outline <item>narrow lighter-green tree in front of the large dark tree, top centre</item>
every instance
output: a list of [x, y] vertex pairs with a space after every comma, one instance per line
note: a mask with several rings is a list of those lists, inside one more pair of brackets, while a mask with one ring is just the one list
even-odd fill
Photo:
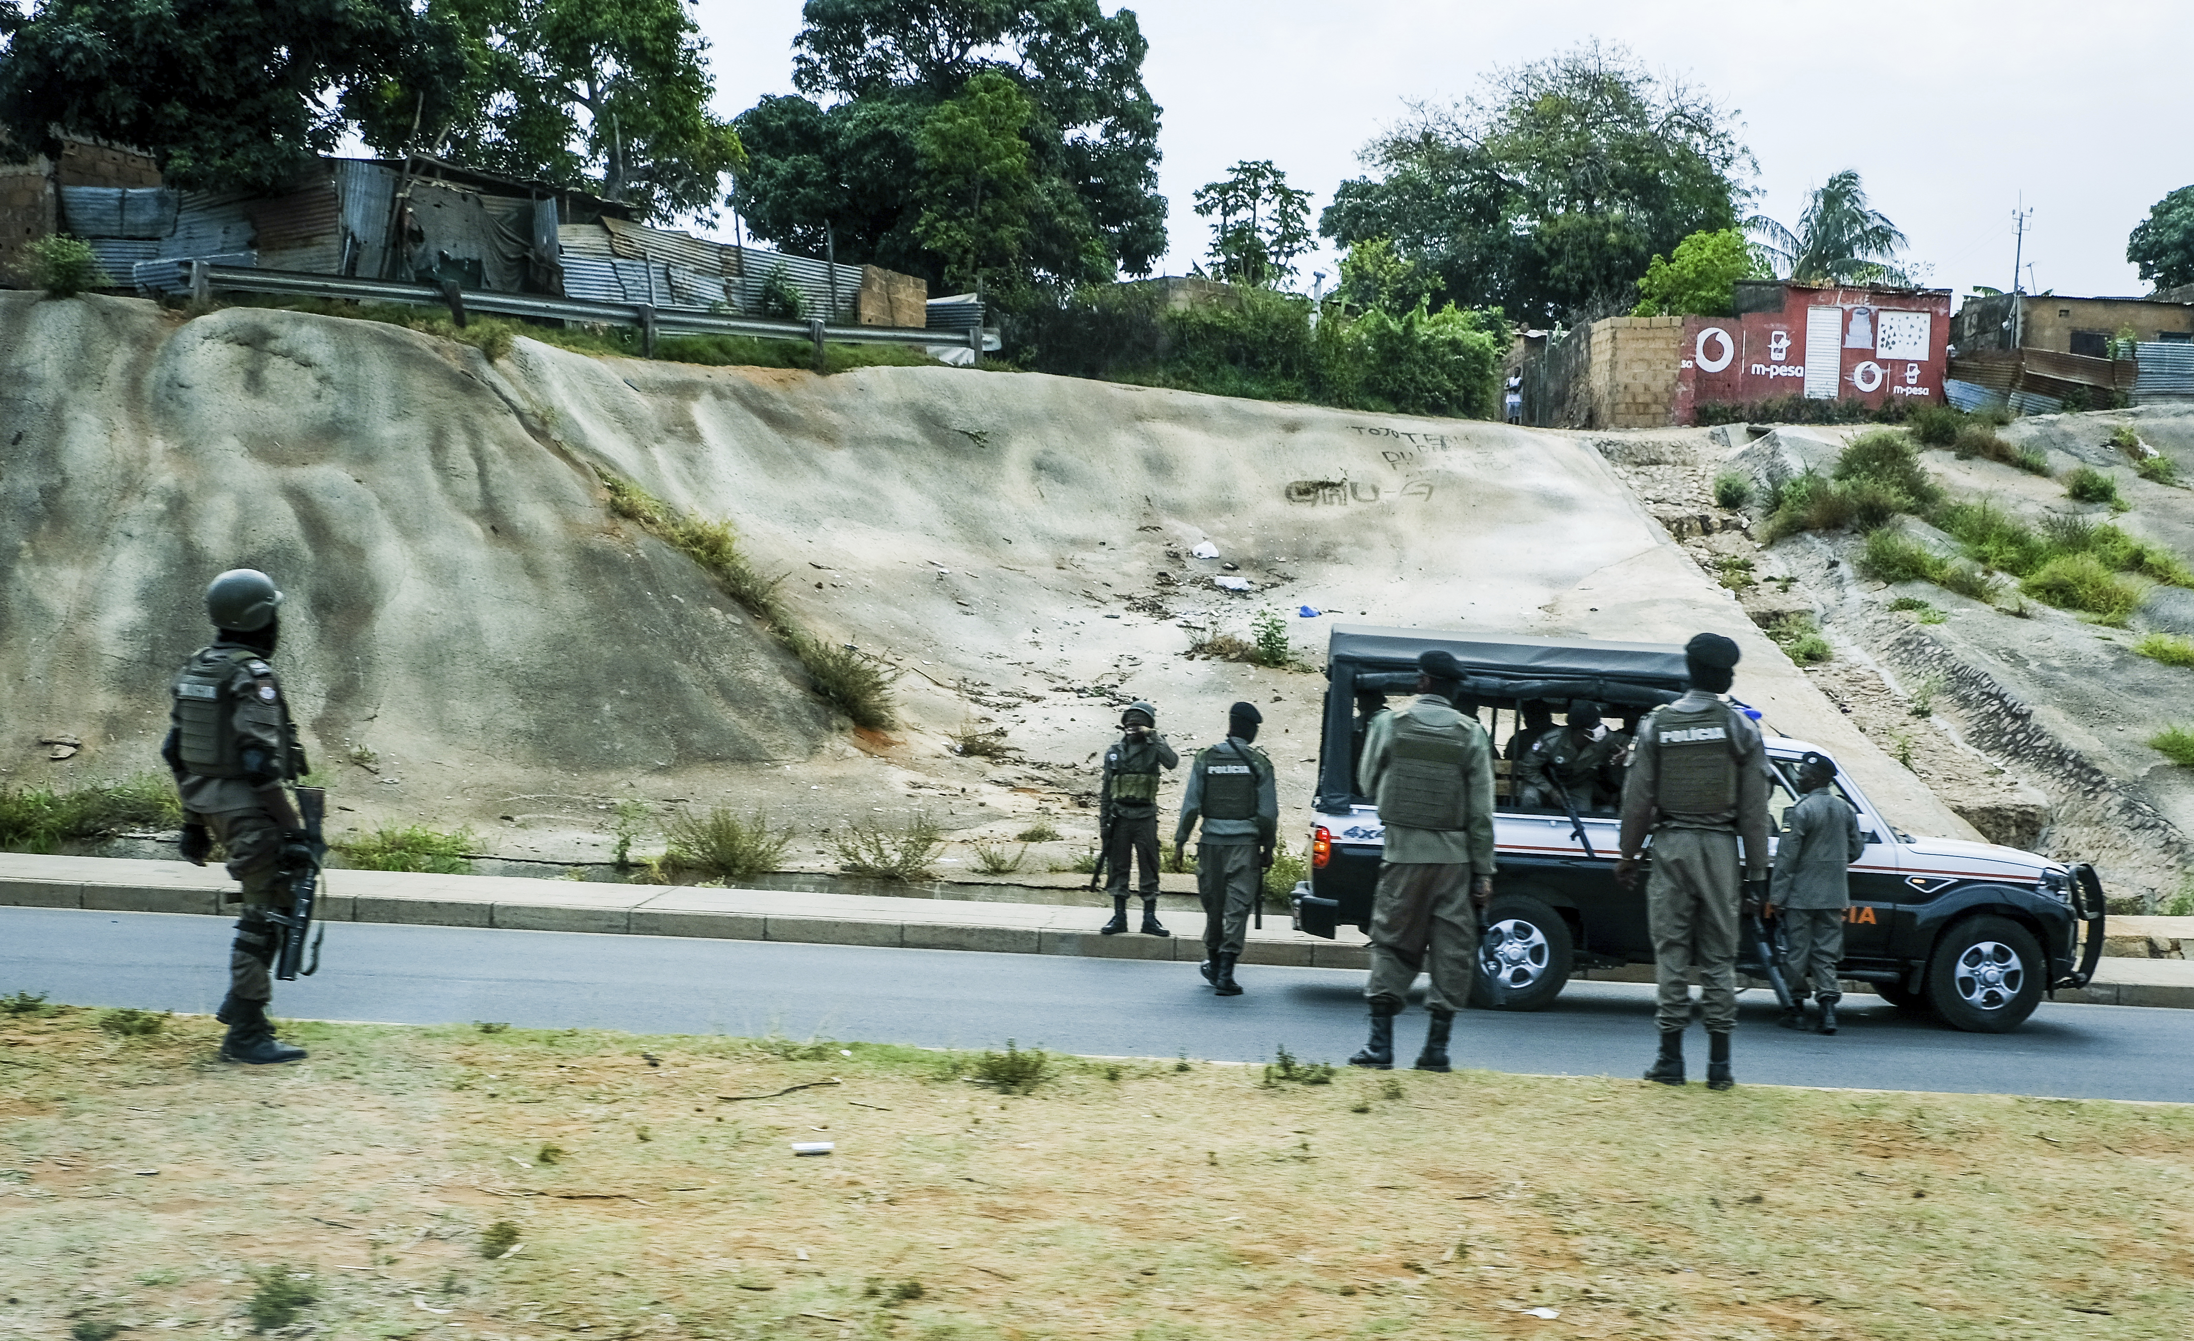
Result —
[[1036, 103], [983, 70], [939, 103], [915, 134], [921, 219], [915, 235], [943, 263], [946, 283], [976, 288], [985, 270], [1011, 272], [1029, 241], [1029, 143]]

